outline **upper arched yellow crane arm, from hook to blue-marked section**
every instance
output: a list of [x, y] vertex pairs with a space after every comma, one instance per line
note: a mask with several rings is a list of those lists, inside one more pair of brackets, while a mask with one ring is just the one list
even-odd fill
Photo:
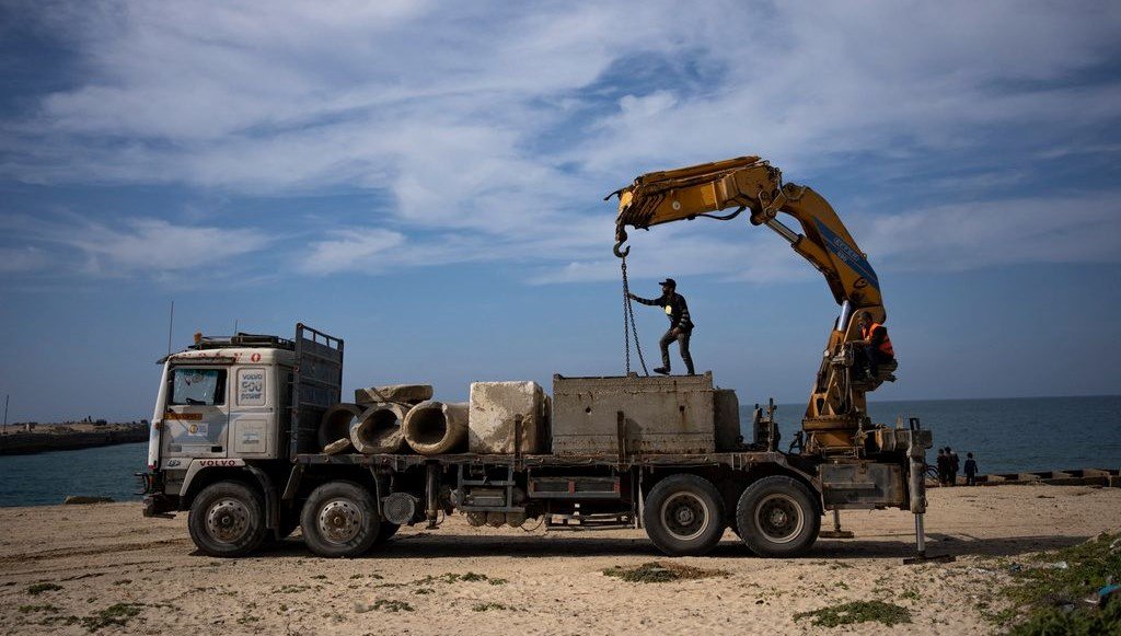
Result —
[[[627, 225], [647, 229], [740, 208], [729, 216], [715, 216], [726, 220], [748, 209], [753, 225], [767, 225], [778, 232], [794, 251], [825, 276], [837, 304], [849, 301], [853, 308], [882, 305], [876, 270], [828, 202], [809, 187], [784, 184], [782, 173], [759, 157], [645, 174], [618, 194], [615, 252], [619, 256], [627, 241]], [[776, 218], [779, 212], [794, 216], [802, 232], [779, 221]]]

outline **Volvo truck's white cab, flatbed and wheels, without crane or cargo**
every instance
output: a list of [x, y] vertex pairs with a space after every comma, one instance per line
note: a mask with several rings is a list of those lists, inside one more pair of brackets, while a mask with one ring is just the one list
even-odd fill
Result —
[[731, 528], [756, 554], [793, 556], [827, 510], [895, 507], [916, 514], [921, 540], [932, 436], [917, 420], [870, 426], [865, 452], [834, 457], [779, 451], [758, 415], [758, 439], [735, 450], [639, 452], [622, 412], [612, 453], [328, 454], [316, 433], [340, 402], [342, 360], [341, 339], [303, 324], [291, 341], [200, 339], [163, 360], [145, 514], [189, 511], [195, 544], [217, 556], [297, 526], [316, 554], [356, 556], [454, 511], [476, 526], [631, 525], [670, 555], [705, 554]]

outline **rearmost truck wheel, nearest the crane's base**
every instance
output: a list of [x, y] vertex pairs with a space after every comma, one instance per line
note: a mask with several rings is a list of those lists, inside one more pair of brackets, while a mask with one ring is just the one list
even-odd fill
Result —
[[740, 495], [735, 526], [743, 543], [760, 556], [797, 556], [817, 540], [822, 518], [805, 483], [771, 476]]

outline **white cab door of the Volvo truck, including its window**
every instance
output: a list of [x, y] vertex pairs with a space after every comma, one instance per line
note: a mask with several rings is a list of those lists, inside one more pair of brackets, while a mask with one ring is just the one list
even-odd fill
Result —
[[164, 415], [165, 458], [224, 458], [230, 425], [229, 369], [174, 367]]

